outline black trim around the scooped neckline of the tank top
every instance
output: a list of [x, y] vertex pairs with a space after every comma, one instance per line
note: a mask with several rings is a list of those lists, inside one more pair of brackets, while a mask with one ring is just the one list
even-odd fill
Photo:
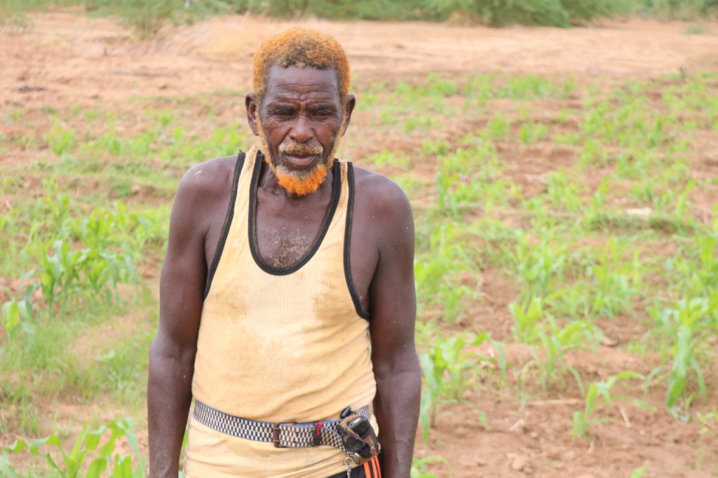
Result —
[[259, 254], [259, 247], [257, 244], [257, 228], [255, 222], [257, 217], [257, 186], [259, 184], [259, 177], [261, 176], [261, 164], [262, 162], [264, 162], [264, 157], [261, 156], [261, 154], [257, 153], [257, 159], [255, 161], [256, 162], [254, 166], [254, 171], [252, 173], [252, 182], [251, 186], [249, 187], [249, 220], [247, 221], [249, 250], [251, 250], [252, 252], [252, 258], [254, 258], [254, 262], [257, 266], [259, 266], [259, 268], [261, 268], [262, 271], [273, 274], [274, 276], [286, 276], [293, 272], [299, 271], [299, 269], [302, 268], [304, 264], [309, 262], [309, 260], [314, 257], [314, 254], [317, 253], [317, 250], [319, 250], [319, 246], [322, 244], [324, 236], [327, 235], [327, 230], [329, 229], [329, 225], [332, 223], [332, 218], [334, 217], [334, 213], [337, 210], [337, 205], [339, 205], [340, 193], [342, 192], [341, 167], [339, 161], [335, 159], [334, 166], [332, 167], [332, 198], [330, 200], [330, 206], [324, 216], [324, 219], [322, 220], [319, 233], [317, 233], [317, 237], [314, 238], [312, 246], [309, 247], [309, 250], [304, 253], [304, 256], [299, 259], [299, 261], [292, 267], [280, 268], [273, 267], [270, 266], [268, 263], [265, 263], [264, 259], [262, 259], [261, 255]]

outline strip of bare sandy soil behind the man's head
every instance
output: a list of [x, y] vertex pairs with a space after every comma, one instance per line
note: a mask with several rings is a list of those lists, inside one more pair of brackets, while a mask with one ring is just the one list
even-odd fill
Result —
[[615, 77], [718, 68], [718, 35], [689, 35], [680, 23], [631, 20], [579, 29], [489, 29], [223, 17], [137, 44], [111, 19], [55, 13], [33, 17], [24, 32], [2, 35], [0, 101], [87, 103], [246, 88], [258, 44], [295, 24], [335, 35], [359, 79], [426, 71]]

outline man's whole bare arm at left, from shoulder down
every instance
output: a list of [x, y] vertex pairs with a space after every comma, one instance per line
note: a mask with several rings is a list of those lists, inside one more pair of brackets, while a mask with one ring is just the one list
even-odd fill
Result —
[[[206, 179], [190, 169], [172, 207], [159, 286], [159, 330], [149, 352], [147, 416], [150, 477], [177, 478], [192, 401], [192, 374], [207, 276]], [[206, 217], [206, 215], [205, 215]]]

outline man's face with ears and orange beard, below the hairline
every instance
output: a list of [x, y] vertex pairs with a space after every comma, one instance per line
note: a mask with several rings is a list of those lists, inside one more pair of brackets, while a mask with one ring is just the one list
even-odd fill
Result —
[[315, 192], [345, 129], [337, 72], [273, 65], [262, 103], [248, 95], [247, 108], [279, 184], [294, 195]]

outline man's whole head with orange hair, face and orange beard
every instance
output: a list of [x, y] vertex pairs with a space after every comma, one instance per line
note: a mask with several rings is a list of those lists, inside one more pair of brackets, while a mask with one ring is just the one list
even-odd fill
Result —
[[329, 35], [291, 29], [255, 53], [247, 118], [290, 194], [311, 194], [324, 181], [354, 108], [348, 91], [347, 56]]

